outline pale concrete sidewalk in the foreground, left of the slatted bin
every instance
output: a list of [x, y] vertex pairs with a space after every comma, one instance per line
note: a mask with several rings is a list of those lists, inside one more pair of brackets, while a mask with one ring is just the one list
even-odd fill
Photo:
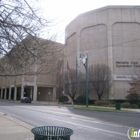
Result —
[[33, 126], [0, 113], [0, 140], [34, 140]]

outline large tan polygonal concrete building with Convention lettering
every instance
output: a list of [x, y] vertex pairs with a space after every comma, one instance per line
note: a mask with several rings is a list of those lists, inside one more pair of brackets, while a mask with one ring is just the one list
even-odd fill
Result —
[[89, 65], [106, 64], [112, 71], [108, 98], [124, 99], [134, 69], [140, 69], [140, 6], [106, 6], [80, 14], [65, 34], [65, 68], [68, 61], [75, 69], [76, 57], [88, 53]]

